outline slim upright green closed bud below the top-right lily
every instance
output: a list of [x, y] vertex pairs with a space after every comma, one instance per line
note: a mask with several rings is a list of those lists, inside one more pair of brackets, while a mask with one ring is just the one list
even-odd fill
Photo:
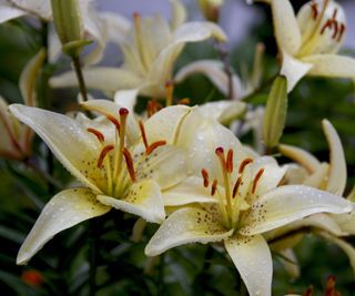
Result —
[[267, 149], [275, 147], [282, 136], [287, 114], [287, 80], [275, 79], [267, 98], [263, 124], [263, 140]]

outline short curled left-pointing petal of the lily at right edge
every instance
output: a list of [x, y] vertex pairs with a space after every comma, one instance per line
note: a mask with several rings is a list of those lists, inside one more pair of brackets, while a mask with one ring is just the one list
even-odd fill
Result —
[[301, 164], [310, 174], [314, 173], [321, 164], [310, 152], [296, 146], [281, 144], [278, 151], [282, 155]]

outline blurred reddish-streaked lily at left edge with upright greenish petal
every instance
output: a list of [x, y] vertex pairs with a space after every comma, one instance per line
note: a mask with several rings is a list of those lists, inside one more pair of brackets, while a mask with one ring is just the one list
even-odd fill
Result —
[[[20, 91], [24, 104], [36, 106], [37, 76], [44, 61], [44, 50], [40, 50], [24, 67], [20, 76]], [[0, 156], [24, 160], [31, 154], [33, 132], [21, 124], [8, 110], [7, 101], [0, 96]]]

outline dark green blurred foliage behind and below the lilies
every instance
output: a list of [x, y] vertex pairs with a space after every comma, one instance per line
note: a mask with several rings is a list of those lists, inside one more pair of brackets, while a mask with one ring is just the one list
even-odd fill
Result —
[[[240, 1], [240, 0], [235, 0]], [[353, 0], [348, 0], [353, 3]], [[305, 1], [294, 1], [296, 7]], [[345, 1], [338, 1], [345, 2]], [[355, 3], [353, 3], [355, 4]], [[257, 4], [262, 21], [250, 28], [247, 39], [230, 50], [232, 67], [237, 74], [251, 69], [257, 42], [266, 48], [264, 81], [277, 73], [276, 45], [273, 38], [270, 10]], [[9, 102], [21, 102], [18, 79], [24, 64], [38, 51], [41, 33], [36, 23], [16, 20], [0, 25], [0, 94]], [[353, 30], [354, 28], [348, 28]], [[344, 49], [355, 57], [355, 45]], [[219, 59], [212, 42], [187, 45], [176, 63], [176, 70], [197, 59]], [[114, 59], [119, 64], [120, 59]], [[69, 67], [60, 61], [55, 71]], [[267, 88], [252, 98], [254, 105], [266, 100]], [[61, 112], [71, 110], [75, 90], [51, 91], [52, 108]], [[175, 95], [191, 98], [192, 104], [224, 99], [211, 82], [194, 75], [176, 86]], [[348, 164], [348, 187], [355, 183], [355, 91], [351, 80], [303, 79], [290, 95], [288, 116], [283, 143], [298, 145], [314, 153], [320, 160], [328, 160], [328, 147], [322, 132], [322, 119], [328, 119], [338, 131]], [[242, 141], [250, 142], [245, 135]], [[112, 211], [94, 220], [94, 233], [88, 223], [57, 235], [30, 262], [16, 266], [17, 252], [32, 227], [43, 204], [58, 191], [38, 170], [51, 171], [58, 186], [71, 182], [69, 173], [50, 157], [37, 139], [37, 169], [0, 160], [0, 290], [1, 295], [89, 295], [89, 245], [98, 248], [98, 295], [246, 295], [237, 272], [224, 253], [205, 245], [178, 247], [164, 256], [146, 259], [145, 243], [156, 226], [150, 225], [141, 243], [130, 239], [136, 218]], [[281, 160], [283, 161], [283, 160]], [[355, 243], [354, 238], [349, 239]], [[275, 257], [273, 295], [290, 292], [302, 294], [311, 284], [315, 295], [322, 295], [326, 277], [337, 276], [337, 288], [344, 296], [355, 295], [354, 274], [347, 257], [334, 245], [307, 235], [296, 247], [301, 264], [301, 277], [292, 280]], [[36, 273], [33, 271], [38, 271]]]

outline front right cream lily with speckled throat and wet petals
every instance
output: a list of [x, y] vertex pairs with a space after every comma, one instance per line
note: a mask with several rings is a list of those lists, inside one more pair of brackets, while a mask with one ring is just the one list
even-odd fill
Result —
[[223, 241], [250, 295], [271, 295], [272, 258], [262, 234], [314, 213], [347, 213], [352, 205], [308, 186], [277, 187], [284, 169], [272, 157], [247, 156], [235, 136], [211, 119], [190, 114], [181, 129], [192, 125], [195, 130], [184, 132], [178, 141], [190, 147], [192, 176], [173, 187], [181, 188], [179, 195], [170, 195], [168, 190], [164, 198], [169, 198], [168, 205], [180, 200], [186, 204], [189, 198], [195, 203], [200, 198], [200, 203], [173, 212], [146, 245], [145, 254]]

